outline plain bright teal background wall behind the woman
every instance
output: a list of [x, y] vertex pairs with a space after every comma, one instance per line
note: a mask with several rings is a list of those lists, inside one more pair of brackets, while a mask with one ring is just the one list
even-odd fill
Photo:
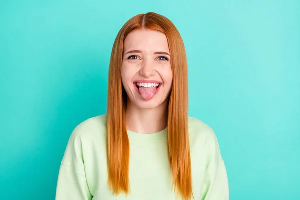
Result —
[[2, 0], [0, 199], [54, 199], [68, 138], [105, 113], [122, 25], [148, 11], [184, 40], [189, 115], [215, 131], [230, 199], [300, 199], [299, 0]]

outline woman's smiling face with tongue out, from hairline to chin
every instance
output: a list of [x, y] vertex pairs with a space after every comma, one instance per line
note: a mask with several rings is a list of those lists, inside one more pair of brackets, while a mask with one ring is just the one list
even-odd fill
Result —
[[123, 53], [121, 76], [128, 101], [139, 108], [154, 108], [165, 102], [172, 87], [166, 35], [133, 30], [124, 41]]

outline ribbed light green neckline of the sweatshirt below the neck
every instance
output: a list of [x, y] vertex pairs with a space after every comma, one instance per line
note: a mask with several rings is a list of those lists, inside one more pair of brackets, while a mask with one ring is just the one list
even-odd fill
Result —
[[167, 127], [155, 133], [141, 134], [127, 130], [129, 140], [151, 142], [167, 137]]

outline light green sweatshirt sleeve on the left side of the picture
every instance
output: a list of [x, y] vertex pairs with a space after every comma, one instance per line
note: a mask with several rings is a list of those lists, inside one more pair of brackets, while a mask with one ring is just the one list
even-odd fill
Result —
[[92, 198], [87, 184], [82, 142], [78, 126], [72, 132], [61, 161], [56, 187], [56, 200], [89, 200]]

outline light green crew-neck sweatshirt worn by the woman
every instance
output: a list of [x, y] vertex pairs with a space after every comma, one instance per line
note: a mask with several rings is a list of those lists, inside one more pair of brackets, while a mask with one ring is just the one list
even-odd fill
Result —
[[[224, 161], [214, 131], [189, 117], [193, 195], [196, 200], [229, 199]], [[107, 186], [106, 115], [89, 118], [72, 132], [59, 169], [57, 200], [173, 200], [167, 128], [152, 134], [128, 132], [131, 193], [112, 195]], [[181, 198], [177, 198], [181, 199]]]

